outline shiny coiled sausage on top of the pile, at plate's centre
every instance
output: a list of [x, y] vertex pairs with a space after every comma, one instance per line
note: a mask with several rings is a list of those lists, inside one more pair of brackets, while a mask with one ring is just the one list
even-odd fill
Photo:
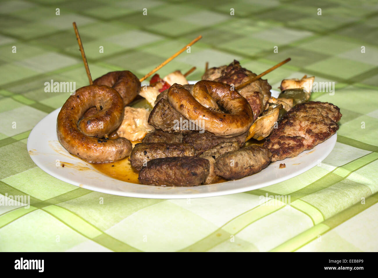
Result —
[[[248, 131], [253, 123], [253, 111], [248, 101], [232, 91], [230, 86], [215, 81], [197, 82], [194, 95], [209, 94], [212, 99], [228, 113], [214, 112], [201, 105], [191, 93], [179, 84], [168, 90], [170, 105], [191, 121], [203, 123], [204, 130], [219, 137], [235, 137]], [[205, 98], [203, 96], [202, 98]]]

